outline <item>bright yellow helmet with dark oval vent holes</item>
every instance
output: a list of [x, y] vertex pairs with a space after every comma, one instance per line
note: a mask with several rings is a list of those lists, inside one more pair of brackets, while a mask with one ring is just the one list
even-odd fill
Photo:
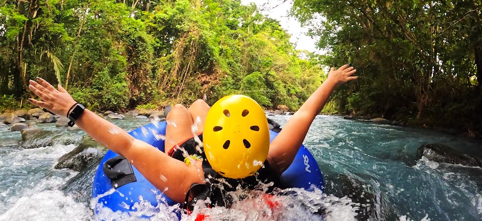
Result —
[[209, 109], [203, 144], [212, 169], [224, 177], [251, 176], [268, 156], [270, 132], [263, 108], [245, 95], [229, 95]]

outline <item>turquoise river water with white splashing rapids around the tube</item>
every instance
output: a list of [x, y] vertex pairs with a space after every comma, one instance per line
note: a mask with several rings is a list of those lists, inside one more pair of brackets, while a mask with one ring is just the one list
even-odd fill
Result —
[[[290, 117], [269, 116], [282, 126]], [[112, 122], [127, 131], [149, 123], [132, 117]], [[0, 220], [95, 219], [90, 202], [94, 170], [78, 174], [54, 169], [85, 133], [56, 128], [55, 124], [36, 127], [60, 134], [61, 140], [68, 142], [24, 149], [19, 144], [20, 132], [0, 128]], [[474, 156], [480, 156], [482, 148], [480, 140], [430, 130], [317, 116], [304, 145], [325, 176], [326, 194], [300, 190], [298, 198], [280, 197], [281, 203], [289, 206], [280, 211], [283, 214], [271, 217], [321, 219], [303, 214], [306, 208], [292, 203], [318, 200], [327, 220], [482, 220], [482, 169], [415, 159], [418, 147], [426, 143], [442, 143]], [[216, 208], [208, 214], [214, 220], [262, 220], [266, 215], [246, 207]]]

